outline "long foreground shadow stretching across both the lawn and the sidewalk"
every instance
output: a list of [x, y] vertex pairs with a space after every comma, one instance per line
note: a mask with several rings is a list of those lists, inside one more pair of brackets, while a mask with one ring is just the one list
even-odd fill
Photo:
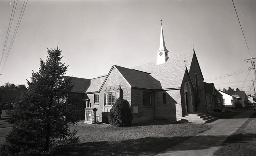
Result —
[[[209, 149], [212, 146], [220, 146], [227, 136], [218, 135], [202, 135], [190, 137], [146, 137], [140, 139], [127, 139], [121, 141], [98, 141], [90, 143], [81, 143], [73, 147], [61, 149], [56, 151], [59, 156], [105, 156], [105, 155], [127, 155], [127, 156], [139, 156], [139, 155], [155, 155], [163, 150], [166, 152], [172, 151], [186, 151], [186, 150], [200, 150]], [[234, 136], [245, 137], [248, 140], [256, 139], [255, 134], [249, 134], [246, 136]], [[189, 141], [182, 143], [182, 146], [175, 146], [175, 149], [168, 149], [176, 144], [179, 144], [188, 138]]]

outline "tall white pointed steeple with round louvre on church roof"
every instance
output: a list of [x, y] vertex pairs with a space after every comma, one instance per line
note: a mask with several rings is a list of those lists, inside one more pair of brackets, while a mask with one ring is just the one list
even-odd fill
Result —
[[157, 58], [157, 61], [156, 61], [156, 65], [165, 63], [169, 58], [168, 57], [168, 52], [169, 51], [165, 47], [164, 33], [162, 31], [162, 19], [160, 21], [161, 21], [160, 45], [159, 45], [159, 49], [157, 51], [158, 58]]

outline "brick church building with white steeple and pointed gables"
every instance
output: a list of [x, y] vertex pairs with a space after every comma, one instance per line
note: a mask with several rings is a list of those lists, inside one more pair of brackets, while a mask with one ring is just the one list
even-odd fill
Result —
[[[69, 95], [78, 99], [80, 110], [96, 108], [99, 122], [108, 121], [108, 112], [119, 97], [131, 105], [132, 123], [154, 118], [176, 121], [188, 112], [206, 112], [204, 78], [194, 50], [170, 56], [161, 25], [156, 53], [156, 62], [133, 68], [113, 65], [107, 76], [94, 79], [73, 77]], [[81, 118], [84, 115], [91, 118], [82, 113]]]

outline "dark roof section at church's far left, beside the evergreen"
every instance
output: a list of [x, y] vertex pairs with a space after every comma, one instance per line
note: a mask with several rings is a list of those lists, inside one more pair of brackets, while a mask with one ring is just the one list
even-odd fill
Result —
[[[63, 76], [64, 80], [71, 78], [70, 76]], [[71, 84], [74, 84], [72, 93], [85, 93], [85, 91], [89, 88], [90, 79], [72, 77]]]

